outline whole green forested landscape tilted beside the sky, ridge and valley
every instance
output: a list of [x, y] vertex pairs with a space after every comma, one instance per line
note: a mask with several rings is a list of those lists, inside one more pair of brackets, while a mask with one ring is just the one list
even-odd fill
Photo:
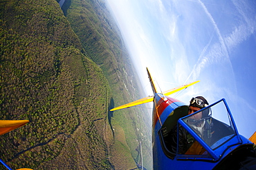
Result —
[[0, 158], [13, 169], [132, 169], [144, 140], [150, 162], [143, 110], [109, 111], [142, 90], [104, 1], [0, 2], [0, 120], [30, 120], [0, 136]]

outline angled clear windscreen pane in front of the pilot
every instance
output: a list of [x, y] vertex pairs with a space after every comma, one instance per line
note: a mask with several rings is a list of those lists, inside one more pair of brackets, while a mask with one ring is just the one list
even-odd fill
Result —
[[183, 122], [213, 150], [235, 136], [234, 125], [223, 101], [183, 118]]

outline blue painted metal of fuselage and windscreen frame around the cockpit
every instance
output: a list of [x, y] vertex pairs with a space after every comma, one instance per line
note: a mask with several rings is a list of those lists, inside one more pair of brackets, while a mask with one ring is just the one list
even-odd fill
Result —
[[[170, 101], [174, 101], [174, 102], [171, 103]], [[223, 102], [226, 105], [226, 110], [230, 118], [230, 123], [232, 124], [232, 128], [234, 129], [234, 134], [230, 136], [230, 138], [226, 137], [221, 139], [223, 140], [222, 142], [221, 140], [219, 141], [221, 142], [221, 145], [216, 147], [216, 149], [212, 149], [186, 123], [183, 122], [183, 119], [189, 116], [180, 118], [179, 124], [182, 127], [184, 127], [206, 149], [206, 151], [208, 151], [208, 154], [210, 154], [211, 158], [200, 158], [202, 156], [179, 155], [176, 153], [176, 156], [172, 160], [168, 158], [163, 151], [163, 146], [161, 146], [163, 144], [161, 144], [161, 140], [160, 140], [161, 136], [159, 136], [158, 131], [161, 129], [163, 123], [167, 119], [167, 116], [169, 116], [170, 113], [174, 111], [174, 109], [176, 109], [177, 107], [184, 105], [184, 103], [176, 101], [173, 98], [167, 98], [165, 96], [162, 96], [161, 94], [156, 94], [154, 98], [153, 114], [154, 115], [158, 114], [159, 117], [155, 123], [155, 126], [153, 124], [154, 131], [153, 131], [152, 141], [153, 141], [154, 169], [201, 169], [202, 167], [205, 167], [207, 169], [213, 169], [219, 162], [221, 162], [223, 158], [230, 155], [230, 153], [234, 151], [237, 147], [241, 145], [248, 145], [248, 144], [253, 145], [252, 142], [250, 142], [248, 139], [238, 134], [237, 127], [235, 125], [235, 120], [232, 118], [232, 114], [230, 112], [230, 109], [228, 108], [228, 105], [225, 99], [221, 99], [217, 101], [217, 103], [214, 103], [208, 107], [205, 107], [204, 109], [209, 109], [210, 107], [217, 105], [218, 103], [221, 103], [221, 102]], [[165, 103], [169, 105], [163, 107]], [[158, 109], [159, 107], [162, 107], [162, 109], [159, 110]], [[203, 109], [201, 109], [200, 111], [203, 111]], [[197, 114], [198, 112], [199, 111], [197, 111], [194, 114]], [[153, 118], [153, 123], [154, 123], [154, 118]], [[177, 143], [179, 145], [179, 142]]]

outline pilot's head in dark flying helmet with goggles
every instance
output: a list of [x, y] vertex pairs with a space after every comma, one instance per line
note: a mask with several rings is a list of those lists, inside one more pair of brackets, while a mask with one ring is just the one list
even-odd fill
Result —
[[[192, 98], [190, 100], [190, 105], [188, 107], [188, 114], [193, 114], [196, 111], [199, 111], [200, 109], [203, 109], [204, 107], [208, 107], [208, 101], [203, 98], [202, 96], [197, 96], [195, 98]], [[209, 111], [204, 111], [205, 113], [196, 114], [194, 115], [195, 119], [199, 120], [202, 117], [208, 116]]]

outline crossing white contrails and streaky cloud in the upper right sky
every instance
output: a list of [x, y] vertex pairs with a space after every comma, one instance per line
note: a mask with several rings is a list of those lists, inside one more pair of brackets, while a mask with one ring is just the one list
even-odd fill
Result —
[[[219, 38], [219, 43], [215, 43], [214, 45], [210, 45], [212, 43], [212, 34], [210, 40], [208, 41], [208, 44], [205, 45], [203, 51], [201, 52], [201, 55], [199, 56], [198, 62], [196, 65], [194, 65], [194, 69], [192, 70], [192, 73], [190, 76], [193, 78], [199, 77], [199, 74], [201, 74], [201, 70], [205, 68], [206, 65], [210, 63], [218, 63], [220, 61], [223, 61], [223, 59], [232, 67], [232, 64], [230, 62], [230, 54], [229, 52], [232, 52], [232, 50], [239, 45], [241, 42], [248, 39], [249, 36], [251, 36], [255, 32], [256, 27], [256, 20], [255, 17], [248, 17], [248, 14], [250, 12], [244, 12], [244, 9], [247, 11], [254, 10], [254, 8], [248, 8], [246, 6], [246, 3], [241, 1], [233, 1], [235, 4], [235, 7], [237, 8], [237, 11], [243, 18], [243, 21], [237, 23], [237, 26], [233, 28], [232, 32], [230, 34], [227, 34], [225, 36], [221, 35], [221, 32], [217, 26], [217, 23], [212, 18], [212, 15], [208, 11], [208, 9], [205, 7], [205, 5], [199, 0], [199, 3], [201, 4], [205, 14], [207, 14], [208, 18], [210, 19], [213, 27], [214, 27], [214, 34], [217, 34]], [[243, 9], [242, 9], [243, 8]], [[247, 14], [247, 15], [246, 15]], [[254, 14], [252, 16], [255, 16]], [[245, 23], [244, 23], [245, 21]], [[210, 62], [210, 63], [209, 63]], [[234, 77], [234, 72], [232, 71], [232, 75]], [[188, 76], [188, 78], [190, 78]], [[187, 80], [188, 80], [187, 78]]]

